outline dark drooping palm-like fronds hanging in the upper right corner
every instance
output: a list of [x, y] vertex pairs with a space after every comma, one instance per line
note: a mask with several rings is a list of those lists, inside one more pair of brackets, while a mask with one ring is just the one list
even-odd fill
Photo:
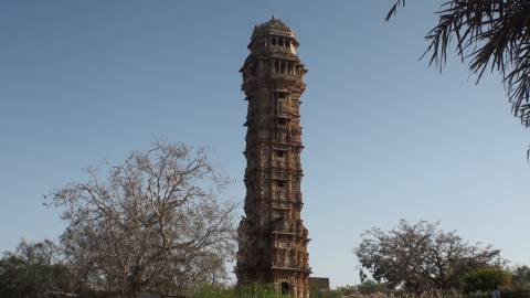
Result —
[[[405, 0], [395, 0], [386, 21], [401, 6]], [[430, 65], [442, 70], [454, 45], [477, 83], [487, 68], [500, 72], [513, 116], [530, 127], [530, 1], [449, 0], [436, 15], [437, 25], [425, 35]]]

